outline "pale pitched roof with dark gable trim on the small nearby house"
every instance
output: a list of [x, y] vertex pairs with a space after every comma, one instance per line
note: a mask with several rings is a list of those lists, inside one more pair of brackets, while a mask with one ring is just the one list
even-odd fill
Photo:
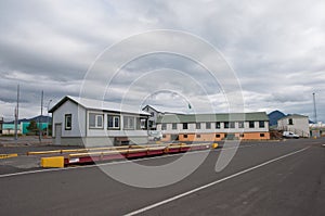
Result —
[[128, 104], [114, 103], [114, 102], [86, 99], [86, 98], [72, 97], [72, 96], [64, 97], [49, 112], [53, 113], [57, 107], [60, 107], [66, 101], [73, 101], [74, 103], [79, 104], [87, 110], [101, 110], [101, 111], [112, 111], [112, 112], [119, 112], [119, 113], [150, 115], [148, 113], [142, 111], [140, 106], [136, 107]]

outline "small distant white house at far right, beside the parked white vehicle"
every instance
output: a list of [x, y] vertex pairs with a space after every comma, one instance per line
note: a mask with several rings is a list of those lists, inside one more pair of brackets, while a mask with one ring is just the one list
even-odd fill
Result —
[[310, 137], [308, 116], [291, 114], [277, 120], [277, 129], [291, 131], [300, 137]]

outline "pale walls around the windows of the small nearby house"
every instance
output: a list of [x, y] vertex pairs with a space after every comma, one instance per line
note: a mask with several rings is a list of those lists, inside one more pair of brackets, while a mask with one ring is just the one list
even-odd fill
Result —
[[[79, 113], [78, 113], [79, 111]], [[103, 116], [103, 127], [91, 128], [89, 125], [90, 113]], [[72, 115], [72, 127], [70, 129], [65, 128], [65, 115]], [[108, 114], [119, 115], [119, 128], [118, 129], [107, 129], [108, 125]], [[123, 129], [123, 117], [142, 117], [139, 114], [114, 114], [105, 111], [98, 110], [86, 110], [72, 101], [66, 101], [60, 107], [57, 107], [52, 114], [52, 136], [55, 138], [55, 125], [62, 125], [62, 136], [60, 144], [62, 145], [87, 145], [87, 147], [103, 147], [113, 145], [114, 139], [116, 137], [128, 137], [128, 139], [133, 143], [146, 143], [147, 142], [147, 130], [142, 129]], [[135, 119], [135, 118], [134, 118]], [[136, 122], [134, 122], [136, 125]], [[55, 139], [53, 140], [55, 142]], [[58, 144], [58, 143], [56, 143]]]

